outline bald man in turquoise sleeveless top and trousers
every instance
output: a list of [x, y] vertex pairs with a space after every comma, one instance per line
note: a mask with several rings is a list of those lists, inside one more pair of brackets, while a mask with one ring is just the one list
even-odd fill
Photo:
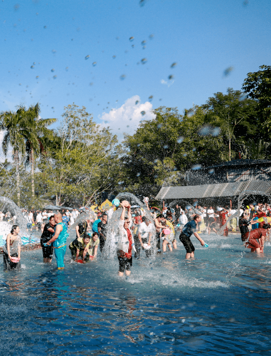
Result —
[[49, 246], [53, 243], [54, 255], [56, 260], [56, 265], [58, 269], [64, 269], [64, 256], [66, 252], [66, 242], [67, 242], [67, 227], [66, 224], [62, 222], [61, 213], [54, 215], [54, 221], [56, 223], [54, 235], [47, 242]]

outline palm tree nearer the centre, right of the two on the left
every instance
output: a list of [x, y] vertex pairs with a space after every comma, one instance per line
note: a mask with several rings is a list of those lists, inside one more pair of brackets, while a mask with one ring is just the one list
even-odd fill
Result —
[[35, 158], [43, 152], [43, 147], [46, 140], [52, 137], [52, 131], [47, 129], [47, 126], [53, 124], [56, 119], [40, 118], [41, 108], [39, 103], [30, 106], [28, 109], [24, 106], [19, 106], [18, 111], [23, 118], [22, 134], [26, 139], [26, 164], [31, 164], [31, 190], [32, 200], [35, 199]]

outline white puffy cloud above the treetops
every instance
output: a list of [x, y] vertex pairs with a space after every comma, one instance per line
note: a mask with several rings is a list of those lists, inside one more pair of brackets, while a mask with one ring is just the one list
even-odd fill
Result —
[[[136, 104], [137, 102], [137, 104]], [[134, 134], [141, 120], [151, 120], [155, 114], [151, 112], [152, 104], [149, 101], [140, 103], [138, 95], [127, 99], [125, 103], [117, 109], [112, 109], [109, 113], [103, 113], [100, 120], [101, 126], [110, 127], [113, 134], [117, 134], [119, 139], [123, 134]], [[144, 115], [141, 112], [145, 112]]]

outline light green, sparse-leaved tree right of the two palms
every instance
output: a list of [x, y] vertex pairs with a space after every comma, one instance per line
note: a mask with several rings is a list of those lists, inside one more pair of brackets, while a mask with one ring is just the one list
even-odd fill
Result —
[[39, 164], [39, 189], [55, 197], [56, 205], [88, 205], [94, 195], [114, 183], [116, 137], [93, 122], [84, 106], [73, 104], [64, 109], [61, 128], [47, 142]]

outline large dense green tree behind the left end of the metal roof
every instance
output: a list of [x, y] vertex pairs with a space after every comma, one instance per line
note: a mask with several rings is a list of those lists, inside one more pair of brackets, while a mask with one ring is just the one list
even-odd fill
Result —
[[219, 160], [224, 149], [219, 135], [200, 134], [204, 112], [201, 108], [155, 109], [153, 120], [143, 121], [134, 135], [126, 136], [127, 153], [123, 157], [123, 180], [135, 194], [155, 195], [161, 185], [184, 182], [187, 169]]

